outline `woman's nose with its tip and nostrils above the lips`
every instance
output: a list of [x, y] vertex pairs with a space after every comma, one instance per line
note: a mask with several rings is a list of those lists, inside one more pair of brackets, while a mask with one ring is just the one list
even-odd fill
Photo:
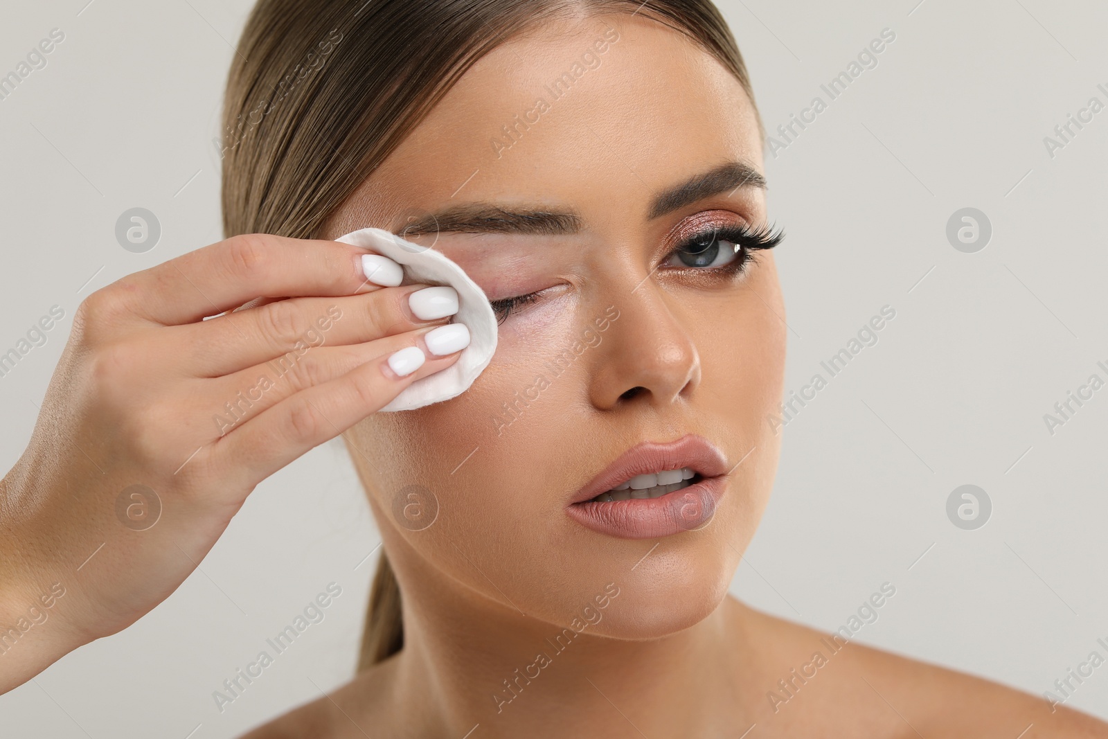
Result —
[[679, 307], [675, 315], [652, 280], [609, 302], [618, 314], [594, 355], [593, 406], [615, 410], [647, 403], [661, 410], [688, 400], [700, 383], [700, 357], [687, 324], [691, 319]]

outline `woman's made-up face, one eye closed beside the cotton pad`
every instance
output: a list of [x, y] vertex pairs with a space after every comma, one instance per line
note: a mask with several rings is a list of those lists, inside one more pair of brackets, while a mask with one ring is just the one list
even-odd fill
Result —
[[[437, 222], [407, 237], [494, 302], [530, 296], [466, 392], [347, 434], [406, 597], [565, 626], [614, 583], [591, 632], [625, 638], [724, 598], [772, 484], [784, 358], [771, 253], [736, 273], [730, 242], [699, 259], [689, 242], [766, 223], [741, 165], [762, 170], [758, 124], [714, 57], [640, 16], [586, 17], [481, 59], [335, 215], [328, 238]], [[441, 213], [478, 206], [565, 215], [462, 233]], [[686, 434], [730, 470], [710, 516], [613, 531], [572, 506], [629, 448]]]

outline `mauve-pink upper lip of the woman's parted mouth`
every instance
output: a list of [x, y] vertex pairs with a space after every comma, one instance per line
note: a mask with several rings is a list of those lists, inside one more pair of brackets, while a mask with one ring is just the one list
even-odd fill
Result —
[[644, 441], [620, 454], [573, 496], [571, 503], [591, 501], [638, 474], [689, 468], [702, 478], [728, 472], [727, 458], [704, 437], [685, 434], [677, 441]]

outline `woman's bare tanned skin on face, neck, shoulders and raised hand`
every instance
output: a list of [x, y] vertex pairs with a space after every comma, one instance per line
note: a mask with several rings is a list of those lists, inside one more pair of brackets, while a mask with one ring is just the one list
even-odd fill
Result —
[[[497, 156], [490, 137], [532, 110], [542, 86], [609, 25], [620, 37], [602, 65]], [[6, 687], [148, 612], [254, 485], [352, 427], [345, 438], [403, 592], [406, 646], [253, 739], [1108, 736], [1104, 723], [1051, 714], [1039, 698], [853, 645], [770, 708], [767, 692], [820, 644], [817, 632], [727, 594], [777, 465], [765, 422], [784, 361], [777, 274], [771, 254], [731, 279], [669, 258], [694, 224], [763, 224], [765, 193], [738, 187], [648, 217], [655, 192], [727, 160], [762, 171], [750, 101], [714, 58], [642, 16], [550, 24], [483, 58], [321, 236], [402, 230], [468, 202], [572, 208], [582, 228], [428, 238], [493, 300], [542, 292], [505, 320], [493, 362], [469, 391], [416, 411], [375, 413], [452, 359], [388, 376], [383, 358], [425, 328], [403, 310], [409, 288], [361, 295], [369, 288], [352, 247], [230, 239], [98, 291], [82, 305], [34, 440], [4, 479], [0, 617], [17, 617], [51, 582], [69, 589], [55, 606], [63, 617], [4, 657], [20, 660], [4, 663]], [[198, 322], [259, 295], [304, 297]], [[314, 369], [219, 437], [217, 409], [332, 302], [343, 318], [309, 352]], [[507, 424], [503, 404], [608, 306], [618, 319]], [[709, 524], [632, 541], [565, 514], [574, 492], [624, 450], [686, 433], [736, 464]], [[136, 482], [166, 501], [150, 536], [114, 516], [116, 495]], [[439, 505], [420, 531], [392, 513], [412, 484]], [[503, 681], [552, 651], [546, 639], [609, 583], [618, 595], [603, 618], [497, 707]]]

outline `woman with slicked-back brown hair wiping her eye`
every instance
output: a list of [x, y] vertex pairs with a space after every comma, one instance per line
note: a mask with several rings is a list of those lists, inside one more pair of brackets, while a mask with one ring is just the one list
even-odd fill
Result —
[[[2, 615], [69, 593], [6, 688], [148, 612], [254, 485], [343, 433], [383, 541], [360, 670], [250, 737], [1108, 736], [728, 596], [784, 326], [761, 123], [708, 0], [261, 0], [225, 116], [233, 237], [82, 305], [4, 479]], [[496, 309], [463, 394], [377, 412], [461, 342], [425, 286], [330, 240], [366, 226]], [[112, 507], [132, 485], [163, 502], [142, 537]]]

